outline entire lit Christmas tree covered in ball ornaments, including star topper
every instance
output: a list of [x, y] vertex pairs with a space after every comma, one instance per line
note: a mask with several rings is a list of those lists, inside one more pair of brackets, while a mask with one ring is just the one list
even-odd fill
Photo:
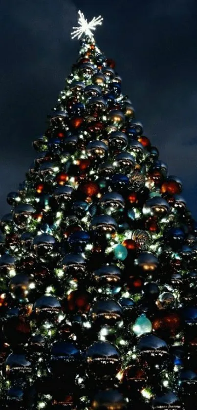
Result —
[[197, 224], [79, 14], [0, 221], [0, 409], [196, 409]]

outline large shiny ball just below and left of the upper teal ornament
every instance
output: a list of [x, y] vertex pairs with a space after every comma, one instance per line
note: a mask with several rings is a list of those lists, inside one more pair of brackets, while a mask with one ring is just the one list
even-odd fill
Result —
[[99, 293], [116, 295], [122, 287], [122, 271], [116, 265], [104, 265], [92, 274], [92, 281]]

